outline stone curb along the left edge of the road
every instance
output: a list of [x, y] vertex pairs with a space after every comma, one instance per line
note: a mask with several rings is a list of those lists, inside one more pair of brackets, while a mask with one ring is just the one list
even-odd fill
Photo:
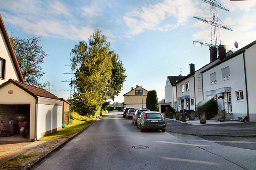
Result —
[[[104, 116], [104, 115], [103, 115]], [[31, 162], [30, 164], [26, 165], [24, 168], [22, 168], [21, 170], [29, 170], [30, 168], [36, 166], [36, 164], [38, 164], [39, 162], [41, 162], [44, 158], [46, 158], [47, 156], [49, 156], [50, 154], [56, 152], [56, 150], [62, 148], [64, 145], [66, 145], [66, 143], [68, 143], [69, 141], [71, 141], [72, 139], [74, 139], [76, 136], [80, 135], [80, 133], [84, 132], [86, 129], [88, 129], [92, 124], [94, 124], [96, 121], [100, 120], [101, 117], [96, 118], [96, 120], [94, 120], [90, 125], [88, 125], [87, 127], [85, 127], [84, 129], [78, 131], [76, 134], [72, 135], [71, 137], [69, 137], [68, 139], [66, 139], [65, 141], [63, 141], [62, 143], [60, 143], [59, 145], [57, 145], [56, 147], [54, 147], [53, 149], [51, 149], [49, 152], [47, 152], [46, 154], [44, 154], [43, 156], [37, 158], [36, 160], [34, 160], [33, 162]]]

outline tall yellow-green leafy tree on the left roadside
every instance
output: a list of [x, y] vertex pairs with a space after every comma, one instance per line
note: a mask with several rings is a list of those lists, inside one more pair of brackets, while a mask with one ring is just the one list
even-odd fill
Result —
[[[78, 92], [74, 95], [74, 107], [82, 107], [79, 102], [90, 104], [94, 96], [94, 113], [97, 106], [107, 99], [117, 96], [123, 86], [126, 75], [118, 55], [110, 48], [110, 43], [100, 30], [94, 31], [88, 44], [80, 41], [71, 51], [72, 69], [76, 71], [74, 84]], [[81, 99], [81, 100], [80, 100]], [[88, 107], [89, 108], [89, 107]], [[79, 111], [78, 111], [79, 110]], [[88, 114], [92, 110], [76, 109], [80, 114]]]

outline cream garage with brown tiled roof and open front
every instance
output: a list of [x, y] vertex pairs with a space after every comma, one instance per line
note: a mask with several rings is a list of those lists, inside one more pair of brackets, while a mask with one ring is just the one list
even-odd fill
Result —
[[0, 119], [17, 123], [16, 115], [26, 115], [30, 141], [62, 129], [63, 101], [43, 88], [9, 79], [0, 85]]

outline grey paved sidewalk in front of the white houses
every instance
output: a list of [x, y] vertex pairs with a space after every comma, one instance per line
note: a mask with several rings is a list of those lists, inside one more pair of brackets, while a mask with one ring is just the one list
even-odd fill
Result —
[[[206, 124], [201, 125], [198, 120], [197, 125], [191, 125], [189, 123], [193, 121], [190, 120], [187, 120], [186, 122], [167, 118], [165, 118], [165, 120], [166, 130], [174, 133], [188, 135], [256, 137], [256, 122], [226, 121], [222, 123], [215, 121], [210, 123], [211, 121], [206, 120]], [[196, 120], [194, 123], [195, 122]]]

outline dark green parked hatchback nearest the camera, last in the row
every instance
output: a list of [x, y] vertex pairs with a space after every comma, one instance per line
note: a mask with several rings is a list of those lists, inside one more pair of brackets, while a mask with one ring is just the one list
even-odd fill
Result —
[[141, 132], [146, 129], [158, 129], [165, 132], [165, 127], [164, 117], [158, 111], [143, 111], [137, 119], [137, 128], [140, 128]]

